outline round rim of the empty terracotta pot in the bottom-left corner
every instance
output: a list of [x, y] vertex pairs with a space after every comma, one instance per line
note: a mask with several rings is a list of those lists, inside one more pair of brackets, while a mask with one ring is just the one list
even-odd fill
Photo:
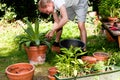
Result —
[[[8, 71], [8, 69], [9, 69], [10, 67], [12, 67], [12, 66], [14, 66], [14, 65], [22, 65], [22, 64], [24, 64], [24, 65], [25, 65], [25, 64], [26, 64], [26, 65], [30, 65], [30, 66], [32, 67], [32, 69], [31, 69], [30, 71], [28, 71], [28, 72], [20, 73], [20, 74], [11, 73], [11, 72]], [[10, 74], [10, 75], [24, 75], [24, 74], [31, 73], [31, 72], [33, 72], [34, 70], [35, 70], [35, 66], [32, 65], [32, 64], [29, 64], [29, 63], [16, 63], [16, 64], [11, 64], [11, 65], [9, 65], [9, 66], [5, 69], [5, 72], [6, 72], [7, 74]]]

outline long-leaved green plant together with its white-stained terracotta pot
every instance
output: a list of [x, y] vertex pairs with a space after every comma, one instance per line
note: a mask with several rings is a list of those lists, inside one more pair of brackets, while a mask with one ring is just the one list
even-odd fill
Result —
[[24, 18], [27, 28], [21, 26], [25, 34], [16, 36], [16, 41], [19, 43], [19, 47], [25, 48], [28, 59], [31, 64], [43, 64], [46, 59], [47, 48], [50, 47], [50, 43], [45, 37], [45, 33], [39, 32], [39, 22], [35, 21], [32, 24], [27, 18]]

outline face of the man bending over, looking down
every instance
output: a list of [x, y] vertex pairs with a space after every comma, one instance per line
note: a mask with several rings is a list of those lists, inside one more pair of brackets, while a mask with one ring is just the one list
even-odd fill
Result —
[[53, 2], [46, 3], [44, 8], [39, 8], [40, 12], [45, 14], [52, 14], [54, 12], [54, 5]]

